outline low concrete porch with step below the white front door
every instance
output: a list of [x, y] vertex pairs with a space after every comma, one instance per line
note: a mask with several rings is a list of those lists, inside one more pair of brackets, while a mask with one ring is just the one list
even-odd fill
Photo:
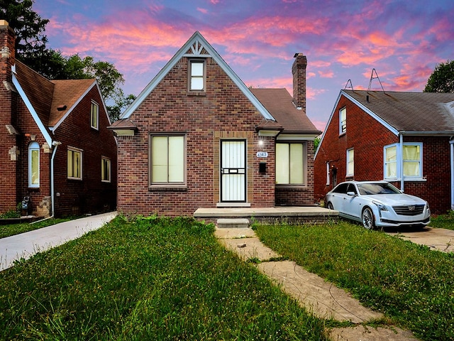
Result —
[[[194, 212], [194, 218], [213, 222], [218, 227], [246, 227], [245, 224], [265, 222], [274, 224], [320, 224], [329, 220], [338, 220], [338, 211], [327, 210], [319, 206], [281, 206], [281, 207], [201, 207]], [[245, 220], [248, 220], [246, 222]], [[219, 225], [222, 226], [219, 226]], [[224, 226], [225, 224], [225, 226]]]

